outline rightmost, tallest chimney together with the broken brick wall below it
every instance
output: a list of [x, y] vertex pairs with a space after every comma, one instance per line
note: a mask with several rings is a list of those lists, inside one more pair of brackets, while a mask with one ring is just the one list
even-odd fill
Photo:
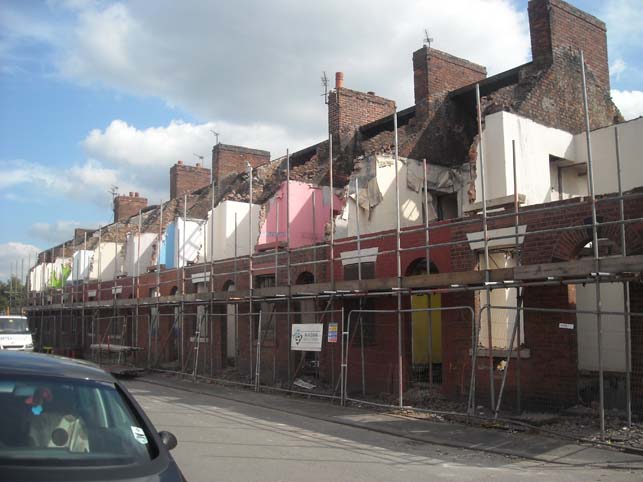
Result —
[[505, 110], [573, 134], [585, 129], [580, 51], [586, 65], [590, 127], [622, 120], [610, 97], [605, 24], [561, 0], [529, 3], [533, 62], [518, 82], [483, 99], [485, 114]]

